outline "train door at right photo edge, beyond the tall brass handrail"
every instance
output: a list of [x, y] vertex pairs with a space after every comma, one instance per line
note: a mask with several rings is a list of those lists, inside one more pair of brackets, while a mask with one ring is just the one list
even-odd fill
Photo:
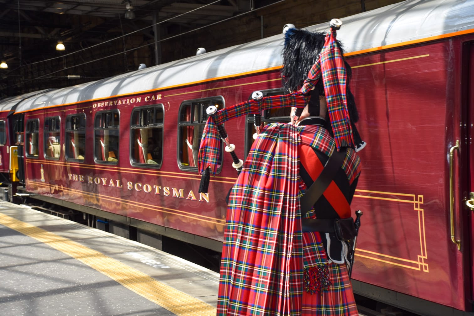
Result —
[[[470, 266], [470, 293], [468, 293], [467, 299], [469, 301], [474, 300], [474, 41], [465, 43], [465, 48], [467, 50], [467, 57], [465, 61], [468, 64], [466, 67], [467, 74], [466, 78], [466, 103], [468, 110], [468, 121], [467, 121], [467, 140], [465, 146], [467, 147], [467, 165], [469, 168], [468, 179], [467, 179], [467, 188], [464, 190], [464, 199], [461, 209], [467, 214], [466, 222], [468, 223], [469, 231], [469, 248], [465, 248], [465, 255], [468, 256], [465, 262], [469, 262]], [[466, 225], [467, 226], [467, 225]]]

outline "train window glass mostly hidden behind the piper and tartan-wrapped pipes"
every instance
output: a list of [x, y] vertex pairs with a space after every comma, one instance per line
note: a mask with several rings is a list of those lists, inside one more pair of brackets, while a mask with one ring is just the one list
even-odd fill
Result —
[[[271, 89], [271, 90], [263, 90], [261, 91], [264, 95], [264, 97], [269, 97], [269, 96], [274, 96], [274, 95], [283, 95], [286, 94], [285, 90], [283, 88], [279, 89]], [[251, 99], [252, 96], [250, 96], [249, 99]], [[262, 112], [262, 126], [265, 126], [270, 123], [288, 123], [290, 122], [290, 112], [291, 112], [291, 107], [284, 107], [284, 108], [273, 108], [269, 110], [264, 110]], [[250, 147], [254, 143], [254, 134], [255, 134], [255, 126], [254, 126], [254, 115], [249, 114], [247, 115], [246, 119], [246, 129], [245, 129], [245, 155], [248, 154], [250, 151]]]

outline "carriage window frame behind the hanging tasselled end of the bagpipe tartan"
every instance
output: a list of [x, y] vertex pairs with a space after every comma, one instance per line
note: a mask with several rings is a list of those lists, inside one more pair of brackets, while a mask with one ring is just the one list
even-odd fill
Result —
[[[225, 107], [225, 100], [223, 96], [212, 96], [212, 97], [207, 97], [207, 98], [201, 98], [201, 99], [190, 99], [190, 100], [184, 100], [181, 102], [181, 105], [179, 107], [178, 111], [178, 133], [177, 133], [177, 148], [176, 148], [176, 163], [178, 164], [178, 168], [182, 171], [191, 171], [191, 172], [197, 172], [198, 171], [198, 166], [197, 166], [197, 159], [196, 160], [196, 165], [195, 166], [190, 166], [189, 164], [186, 164], [185, 162], [182, 161], [182, 156], [184, 156], [184, 153], [181, 153], [181, 149], [183, 147], [183, 135], [182, 135], [182, 128], [189, 127], [189, 126], [198, 126], [199, 130], [194, 133], [195, 135], [199, 135], [199, 142], [198, 142], [198, 149], [199, 149], [199, 144], [201, 143], [202, 139], [202, 129], [204, 129], [204, 126], [206, 125], [207, 119], [209, 115], [206, 113], [206, 109], [210, 105], [215, 105], [219, 104], [218, 109], [224, 108]], [[186, 107], [190, 106], [190, 119], [186, 120], [183, 118], [183, 109]], [[195, 107], [198, 107], [198, 113], [195, 112]], [[199, 132], [201, 131], [201, 132]], [[222, 160], [223, 160], [223, 147], [222, 147], [222, 142], [219, 143], [221, 146], [221, 150], [219, 150], [219, 162], [218, 163], [218, 168], [216, 170], [216, 174], [220, 173], [222, 170]], [[188, 147], [189, 148], [189, 147]], [[189, 153], [188, 153], [189, 155]]]

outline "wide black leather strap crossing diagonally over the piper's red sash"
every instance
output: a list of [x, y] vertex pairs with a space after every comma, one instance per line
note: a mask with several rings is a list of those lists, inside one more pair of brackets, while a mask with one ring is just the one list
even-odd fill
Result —
[[319, 199], [323, 192], [328, 188], [329, 183], [334, 179], [337, 170], [342, 166], [346, 158], [346, 147], [341, 147], [341, 151], [334, 150], [329, 157], [324, 169], [319, 174], [318, 179], [311, 184], [310, 188], [300, 199], [301, 218], [313, 208], [314, 203]]

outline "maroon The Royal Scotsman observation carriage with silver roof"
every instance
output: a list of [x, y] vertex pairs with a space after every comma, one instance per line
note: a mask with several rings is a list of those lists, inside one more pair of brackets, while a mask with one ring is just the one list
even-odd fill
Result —
[[[420, 315], [473, 311], [473, 8], [409, 0], [342, 18], [337, 35], [367, 142], [354, 289]], [[19, 102], [23, 194], [219, 251], [237, 173], [223, 154], [198, 193], [205, 109], [283, 93], [282, 45], [272, 36]], [[225, 125], [244, 159], [253, 117]]]

